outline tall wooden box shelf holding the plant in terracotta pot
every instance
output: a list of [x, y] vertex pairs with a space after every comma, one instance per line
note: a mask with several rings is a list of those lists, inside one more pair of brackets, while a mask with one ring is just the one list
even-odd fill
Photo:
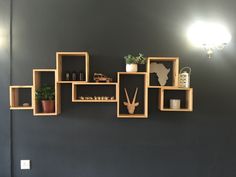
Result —
[[[55, 116], [61, 111], [60, 85], [56, 83], [55, 69], [34, 69], [33, 70], [33, 107], [35, 116]], [[55, 88], [55, 111], [52, 113], [43, 113], [41, 102], [36, 100], [35, 93], [42, 86], [52, 86]]]

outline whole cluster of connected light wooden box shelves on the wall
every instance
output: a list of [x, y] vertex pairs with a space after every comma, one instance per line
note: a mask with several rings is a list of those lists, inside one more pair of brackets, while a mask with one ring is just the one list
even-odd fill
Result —
[[[172, 80], [166, 86], [153, 84], [150, 73], [152, 62], [171, 65]], [[68, 71], [84, 73], [84, 80], [66, 80]], [[160, 111], [192, 111], [193, 89], [178, 87], [179, 59], [167, 57], [149, 57], [146, 72], [118, 72], [117, 82], [89, 82], [88, 52], [57, 52], [56, 69], [33, 69], [32, 86], [10, 86], [10, 109], [33, 110], [34, 116], [56, 116], [61, 113], [61, 84], [71, 84], [72, 102], [74, 103], [116, 103], [118, 118], [148, 118], [148, 90], [159, 89]], [[43, 85], [53, 85], [55, 88], [55, 112], [43, 113], [41, 103], [35, 99], [35, 92]], [[129, 114], [124, 103], [126, 101], [124, 88], [131, 95], [138, 88], [137, 99], [139, 106], [134, 114]], [[181, 109], [170, 109], [166, 102], [168, 92], [184, 92], [185, 105]], [[26, 92], [26, 93], [24, 93]], [[104, 94], [105, 93], [105, 94]], [[27, 96], [25, 96], [27, 95]], [[25, 98], [26, 97], [26, 98]], [[86, 99], [85, 99], [86, 98]], [[89, 98], [89, 99], [88, 99]], [[29, 103], [24, 105], [23, 103]]]

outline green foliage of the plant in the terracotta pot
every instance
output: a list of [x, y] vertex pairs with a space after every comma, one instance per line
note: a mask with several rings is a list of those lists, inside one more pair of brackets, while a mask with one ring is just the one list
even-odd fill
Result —
[[55, 100], [55, 90], [52, 86], [43, 86], [35, 93], [37, 100]]

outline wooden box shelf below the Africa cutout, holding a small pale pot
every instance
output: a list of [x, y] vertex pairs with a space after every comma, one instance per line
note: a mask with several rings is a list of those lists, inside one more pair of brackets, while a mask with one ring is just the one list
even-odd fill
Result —
[[[161, 88], [159, 90], [160, 111], [193, 111], [193, 89], [192, 88]], [[180, 109], [170, 108], [170, 99], [180, 99]]]

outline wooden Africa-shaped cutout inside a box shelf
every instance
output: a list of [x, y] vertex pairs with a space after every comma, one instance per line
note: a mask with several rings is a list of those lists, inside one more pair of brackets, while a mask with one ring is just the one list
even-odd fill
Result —
[[161, 86], [165, 86], [168, 80], [170, 68], [166, 68], [162, 63], [152, 62], [150, 65], [150, 73], [156, 73], [158, 82]]

